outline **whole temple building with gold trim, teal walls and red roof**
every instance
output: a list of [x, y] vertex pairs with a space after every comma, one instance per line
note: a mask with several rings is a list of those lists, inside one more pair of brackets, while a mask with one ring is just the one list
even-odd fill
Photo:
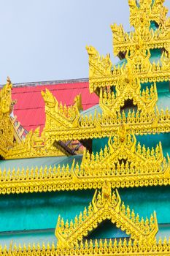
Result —
[[0, 255], [170, 255], [170, 18], [128, 0], [113, 65], [0, 91]]

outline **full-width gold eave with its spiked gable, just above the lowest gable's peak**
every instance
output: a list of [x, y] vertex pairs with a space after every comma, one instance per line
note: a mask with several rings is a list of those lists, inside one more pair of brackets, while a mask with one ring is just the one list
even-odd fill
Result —
[[[24, 153], [25, 154], [25, 153]], [[161, 143], [155, 148], [136, 144], [124, 125], [114, 140], [96, 155], [84, 151], [80, 165], [0, 170], [0, 194], [59, 190], [100, 189], [105, 181], [112, 188], [170, 184], [170, 160], [163, 157]]]

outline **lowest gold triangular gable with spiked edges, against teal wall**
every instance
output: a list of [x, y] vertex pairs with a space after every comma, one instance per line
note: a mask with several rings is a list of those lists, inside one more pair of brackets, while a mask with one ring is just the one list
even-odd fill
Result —
[[130, 210], [129, 206], [121, 204], [117, 190], [112, 192], [111, 184], [103, 184], [102, 192], [95, 192], [92, 203], [85, 208], [74, 222], [64, 223], [58, 217], [55, 236], [58, 239], [58, 247], [69, 247], [82, 241], [84, 236], [94, 230], [101, 222], [110, 219], [113, 224], [125, 231], [132, 239], [140, 241], [153, 241], [158, 232], [156, 214], [149, 219], [139, 219], [139, 214]]

